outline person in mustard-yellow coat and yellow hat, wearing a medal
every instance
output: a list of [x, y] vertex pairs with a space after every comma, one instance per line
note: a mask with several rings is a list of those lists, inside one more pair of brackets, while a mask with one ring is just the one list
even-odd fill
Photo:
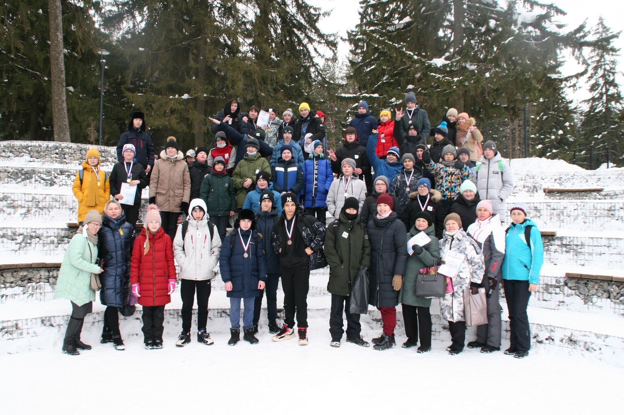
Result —
[[82, 162], [82, 183], [80, 173], [76, 173], [74, 179], [74, 196], [78, 199], [78, 222], [84, 221], [84, 217], [91, 209], [104, 212], [104, 204], [110, 199], [109, 177], [100, 166], [100, 152], [97, 148], [87, 151], [87, 160]]

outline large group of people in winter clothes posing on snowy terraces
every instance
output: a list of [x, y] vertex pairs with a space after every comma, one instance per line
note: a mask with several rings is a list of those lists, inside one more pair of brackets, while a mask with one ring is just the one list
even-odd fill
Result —
[[[499, 290], [504, 285], [512, 327], [505, 353], [528, 355], [526, 308], [539, 280], [541, 237], [522, 204], [512, 207], [512, 224], [507, 231], [503, 228], [513, 175], [493, 141], [480, 144], [483, 137], [474, 118], [450, 108], [431, 129], [413, 93], [407, 93], [405, 110], [396, 110], [394, 120], [389, 110], [377, 120], [368, 103], [360, 102], [344, 131], [343, 146], [334, 151], [326, 145], [324, 114], [311, 112], [305, 102], [299, 110], [300, 117], [288, 109], [280, 120], [269, 108], [268, 124], [258, 128], [261, 110], [251, 107], [243, 113], [238, 101], [230, 100], [210, 118], [213, 148], [200, 146], [187, 152], [187, 160], [173, 137], [155, 156], [144, 114], [135, 112], [120, 137], [119, 163], [110, 176], [100, 170], [97, 150], [89, 150], [74, 181], [82, 226], [74, 239], [80, 244], [72, 239], [67, 265], [64, 260], [66, 270], [75, 269], [71, 274], [62, 269], [57, 286], [57, 297], [72, 300], [70, 323], [90, 312], [94, 293], [88, 279], [100, 272], [100, 300], [107, 305], [102, 342], [124, 348], [117, 308], [132, 296], [143, 306], [145, 347], [160, 348], [164, 306], [180, 280], [183, 330], [176, 345], [190, 342], [195, 297], [197, 340], [210, 345], [210, 282], [221, 275], [230, 298], [228, 344], [240, 340], [241, 301], [243, 340], [258, 343], [255, 334], [266, 291], [273, 340], [298, 337], [306, 345], [310, 270], [327, 264], [330, 345], [340, 346], [344, 312], [346, 340], [369, 346], [360, 334], [359, 314], [349, 312], [351, 287], [364, 267], [369, 270], [369, 304], [380, 310], [383, 320], [383, 333], [372, 340], [373, 348], [396, 345], [396, 306], [401, 303], [407, 336], [402, 346], [420, 342], [417, 351], [424, 353], [431, 350], [431, 298], [417, 295], [416, 277], [435, 270], [454, 252], [462, 258], [461, 267], [446, 275], [449, 284], [441, 298], [452, 337], [449, 353], [464, 349], [463, 292], [476, 294], [480, 288], [487, 290], [488, 323], [479, 326], [477, 339], [467, 346], [482, 353], [500, 350]], [[427, 146], [429, 135], [433, 139]], [[134, 237], [140, 194], [148, 185], [144, 227]], [[135, 192], [129, 193], [132, 188]], [[134, 196], [133, 203], [124, 200], [128, 194]], [[333, 221], [326, 219], [328, 213]], [[417, 234], [426, 235], [421, 240], [427, 242], [407, 246]], [[83, 261], [71, 262], [78, 255]], [[96, 270], [98, 257], [103, 263]], [[78, 275], [87, 284], [74, 281], [69, 283], [72, 290], [64, 288], [67, 279]], [[280, 279], [285, 294], [281, 326], [276, 305]], [[80, 287], [83, 295], [72, 297]], [[85, 346], [79, 340], [81, 327], [68, 326], [66, 353], [76, 354]]]

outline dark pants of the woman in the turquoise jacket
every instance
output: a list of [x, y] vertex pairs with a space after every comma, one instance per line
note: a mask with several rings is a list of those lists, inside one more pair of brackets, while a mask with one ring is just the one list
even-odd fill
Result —
[[529, 315], [527, 315], [530, 297], [529, 281], [505, 280], [510, 346], [520, 351], [529, 351], [531, 348]]

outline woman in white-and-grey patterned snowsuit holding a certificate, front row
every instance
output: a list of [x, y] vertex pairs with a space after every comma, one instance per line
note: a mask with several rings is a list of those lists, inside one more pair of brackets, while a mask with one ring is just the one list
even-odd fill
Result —
[[440, 299], [442, 318], [449, 322], [452, 340], [446, 350], [449, 355], [459, 355], [464, 351], [466, 341], [464, 289], [470, 287], [473, 294], [478, 292], [485, 272], [485, 261], [477, 242], [462, 229], [462, 220], [456, 213], [444, 219], [440, 257], [445, 264], [439, 267], [438, 274], [451, 277], [453, 288], [453, 292]]

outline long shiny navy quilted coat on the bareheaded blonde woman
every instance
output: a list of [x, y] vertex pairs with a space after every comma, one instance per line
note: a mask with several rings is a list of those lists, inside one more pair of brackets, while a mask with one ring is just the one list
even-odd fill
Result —
[[102, 215], [97, 249], [100, 259], [104, 260], [104, 272], [100, 274], [100, 302], [104, 305], [123, 307], [128, 303], [133, 231], [134, 226], [125, 221], [123, 212], [115, 219]]

